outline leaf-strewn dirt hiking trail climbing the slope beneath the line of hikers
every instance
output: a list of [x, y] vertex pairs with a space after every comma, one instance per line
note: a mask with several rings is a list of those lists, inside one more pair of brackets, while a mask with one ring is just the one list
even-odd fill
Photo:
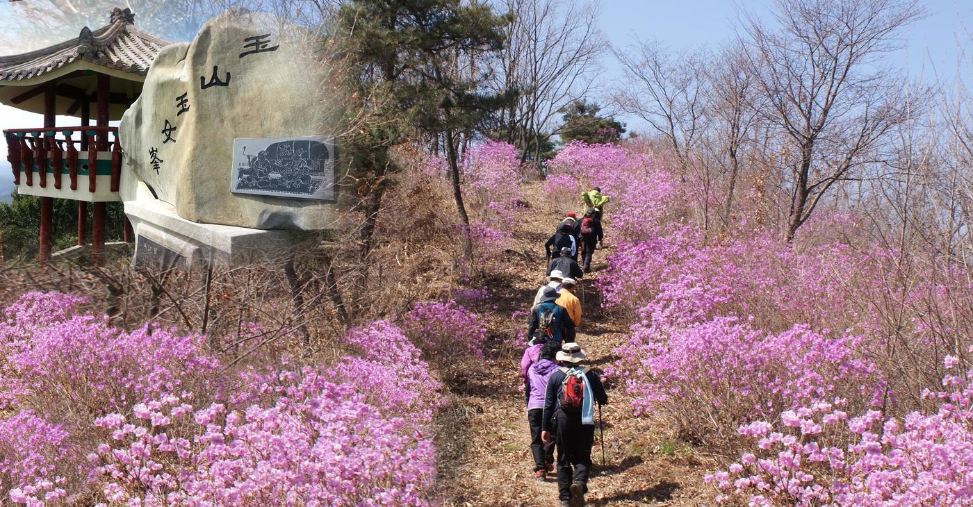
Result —
[[[514, 334], [526, 330], [527, 310], [547, 268], [544, 242], [562, 215], [545, 199], [541, 184], [526, 185], [524, 193], [529, 208], [514, 226], [514, 245], [499, 266], [488, 268], [490, 298], [486, 308], [476, 308], [486, 317], [490, 334], [485, 362], [448, 382], [450, 407], [438, 417], [439, 489], [444, 505], [559, 505], [556, 474], [548, 474], [543, 482], [533, 478], [520, 388], [525, 344]], [[610, 214], [609, 204], [605, 215]], [[707, 459], [667, 435], [665, 424], [632, 416], [630, 399], [618, 380], [603, 374], [617, 359], [614, 350], [624, 343], [626, 332], [625, 322], [601, 308], [595, 288], [613, 244], [610, 222], [604, 243], [605, 249], [595, 253], [592, 272], [586, 273], [575, 292], [583, 305], [577, 343], [588, 355], [585, 364], [605, 380], [609, 397], [602, 408], [605, 462], [601, 462], [601, 440], [595, 429], [586, 505], [703, 505]], [[511, 318], [514, 312], [519, 312], [516, 320]]]

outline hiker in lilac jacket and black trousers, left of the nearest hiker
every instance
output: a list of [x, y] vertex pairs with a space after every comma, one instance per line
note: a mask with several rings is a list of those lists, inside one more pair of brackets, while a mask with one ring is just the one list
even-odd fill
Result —
[[[538, 348], [537, 360], [527, 368], [524, 387], [527, 397], [527, 425], [530, 427], [530, 453], [534, 458], [534, 478], [544, 480], [554, 471], [554, 442], [541, 442], [541, 418], [544, 416], [544, 397], [547, 380], [558, 364], [554, 362], [560, 350], [558, 342], [548, 342]], [[523, 362], [521, 363], [523, 372]]]

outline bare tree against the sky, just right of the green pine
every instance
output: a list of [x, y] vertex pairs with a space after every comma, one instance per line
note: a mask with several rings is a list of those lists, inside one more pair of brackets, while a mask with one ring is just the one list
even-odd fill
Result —
[[502, 112], [502, 135], [521, 149], [521, 160], [554, 133], [552, 122], [565, 105], [592, 91], [598, 60], [607, 50], [597, 28], [597, 3], [574, 0], [502, 0], [514, 16], [507, 45], [497, 58], [493, 87], [519, 91]]

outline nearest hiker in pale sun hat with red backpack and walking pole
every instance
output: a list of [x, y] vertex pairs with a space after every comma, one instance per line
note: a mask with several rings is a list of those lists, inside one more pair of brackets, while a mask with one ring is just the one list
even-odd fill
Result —
[[580, 506], [585, 504], [592, 467], [595, 402], [608, 404], [608, 395], [597, 374], [581, 367], [585, 352], [580, 345], [561, 345], [555, 359], [560, 367], [548, 378], [541, 442], [551, 442], [554, 433], [560, 505]]

